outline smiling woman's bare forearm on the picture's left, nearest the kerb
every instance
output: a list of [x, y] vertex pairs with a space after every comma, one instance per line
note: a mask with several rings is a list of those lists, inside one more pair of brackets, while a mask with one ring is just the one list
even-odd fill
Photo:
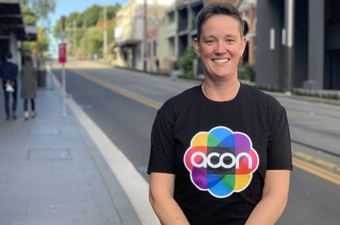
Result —
[[173, 199], [174, 179], [174, 174], [151, 172], [149, 200], [162, 225], [189, 225]]

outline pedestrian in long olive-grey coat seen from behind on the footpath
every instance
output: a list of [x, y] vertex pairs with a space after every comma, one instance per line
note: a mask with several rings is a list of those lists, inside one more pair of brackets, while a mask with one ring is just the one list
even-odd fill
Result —
[[35, 80], [37, 77], [37, 71], [31, 64], [31, 57], [28, 56], [25, 59], [25, 64], [22, 65], [21, 71], [21, 97], [23, 98], [23, 108], [25, 119], [28, 119], [28, 99], [30, 99], [31, 104], [31, 116], [35, 117], [34, 111], [34, 98], [36, 97]]

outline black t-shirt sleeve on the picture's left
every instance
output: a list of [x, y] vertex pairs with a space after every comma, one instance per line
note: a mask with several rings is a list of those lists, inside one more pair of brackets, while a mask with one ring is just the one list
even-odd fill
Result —
[[151, 130], [151, 151], [147, 173], [175, 174], [173, 166], [173, 123], [159, 111]]

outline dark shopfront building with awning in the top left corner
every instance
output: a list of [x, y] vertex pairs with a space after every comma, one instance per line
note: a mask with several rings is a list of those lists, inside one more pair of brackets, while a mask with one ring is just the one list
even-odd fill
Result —
[[24, 25], [19, 0], [0, 0], [0, 63], [9, 51], [21, 71], [21, 41], [36, 40], [37, 31]]

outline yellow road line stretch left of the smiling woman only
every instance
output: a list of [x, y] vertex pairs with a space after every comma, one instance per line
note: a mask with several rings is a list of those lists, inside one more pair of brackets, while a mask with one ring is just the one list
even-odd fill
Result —
[[161, 103], [159, 101], [153, 100], [153, 99], [148, 98], [148, 97], [144, 97], [144, 96], [142, 96], [140, 94], [133, 93], [131, 91], [128, 91], [128, 90], [125, 90], [125, 89], [120, 88], [118, 86], [115, 86], [115, 85], [113, 85], [111, 83], [104, 82], [104, 81], [102, 81], [100, 79], [97, 79], [97, 78], [91, 76], [91, 75], [88, 75], [88, 74], [86, 74], [84, 72], [76, 70], [76, 69], [72, 68], [70, 65], [65, 64], [65, 67], [68, 68], [69, 70], [72, 70], [76, 74], [84, 77], [85, 79], [88, 79], [88, 80], [90, 80], [90, 81], [92, 81], [92, 82], [94, 82], [96, 84], [99, 84], [100, 86], [105, 87], [105, 88], [107, 88], [109, 90], [112, 90], [112, 91], [114, 91], [114, 92], [116, 92], [116, 93], [118, 93], [118, 94], [120, 94], [120, 95], [122, 95], [124, 97], [128, 97], [128, 98], [130, 98], [132, 100], [135, 100], [135, 101], [137, 101], [139, 103], [145, 104], [145, 105], [147, 105], [147, 106], [149, 106], [151, 108], [154, 108], [154, 109], [158, 110], [162, 106], [162, 104], [163, 104], [163, 103]]

